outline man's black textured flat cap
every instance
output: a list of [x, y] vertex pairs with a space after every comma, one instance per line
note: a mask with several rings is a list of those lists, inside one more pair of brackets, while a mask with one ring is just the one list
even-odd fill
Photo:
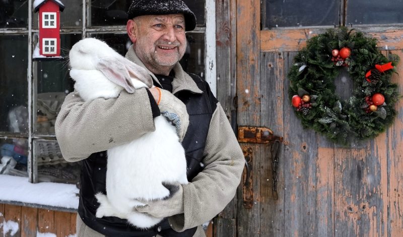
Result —
[[196, 27], [196, 16], [181, 0], [133, 0], [127, 11], [128, 19], [145, 15], [183, 14], [185, 30], [191, 31]]

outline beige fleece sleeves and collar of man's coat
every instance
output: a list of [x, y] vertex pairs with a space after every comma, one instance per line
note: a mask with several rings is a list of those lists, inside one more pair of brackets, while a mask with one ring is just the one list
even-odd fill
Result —
[[[146, 68], [132, 47], [126, 58]], [[173, 93], [180, 90], [202, 93], [179, 64], [173, 70]], [[144, 88], [133, 94], [123, 91], [117, 98], [89, 102], [72, 92], [66, 96], [55, 124], [63, 157], [71, 162], [154, 130], [151, 105]], [[204, 170], [183, 186], [184, 213], [168, 218], [176, 231], [211, 220], [231, 201], [240, 182], [245, 163], [243, 153], [220, 103], [210, 122], [204, 155]], [[197, 231], [194, 236], [203, 235], [203, 231]]]

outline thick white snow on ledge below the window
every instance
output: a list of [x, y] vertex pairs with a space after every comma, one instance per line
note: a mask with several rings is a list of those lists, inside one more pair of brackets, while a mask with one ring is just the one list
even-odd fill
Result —
[[77, 209], [78, 193], [75, 185], [28, 182], [27, 177], [0, 174], [0, 200]]

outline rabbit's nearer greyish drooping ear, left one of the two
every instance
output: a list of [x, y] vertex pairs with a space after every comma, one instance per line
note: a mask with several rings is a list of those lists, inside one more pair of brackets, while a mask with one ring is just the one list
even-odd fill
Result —
[[109, 81], [123, 87], [128, 93], [135, 92], [135, 87], [131, 84], [128, 71], [124, 65], [116, 61], [116, 58], [102, 58], [99, 60], [96, 69], [101, 71]]

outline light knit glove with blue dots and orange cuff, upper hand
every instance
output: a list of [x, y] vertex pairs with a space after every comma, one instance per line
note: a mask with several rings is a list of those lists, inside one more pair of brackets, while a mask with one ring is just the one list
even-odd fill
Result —
[[161, 114], [172, 121], [176, 127], [179, 141], [182, 141], [189, 125], [189, 114], [187, 114], [186, 105], [171, 92], [163, 89], [160, 90], [161, 96], [158, 107]]

